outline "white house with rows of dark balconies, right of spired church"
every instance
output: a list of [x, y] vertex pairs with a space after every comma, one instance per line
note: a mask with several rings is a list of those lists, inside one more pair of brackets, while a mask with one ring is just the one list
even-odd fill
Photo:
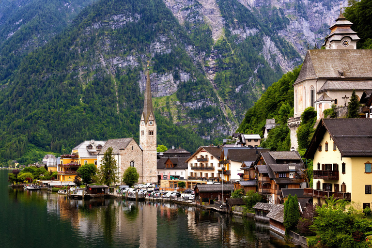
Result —
[[[188, 164], [188, 179], [219, 181], [221, 175], [218, 169], [219, 156], [222, 148], [219, 146], [201, 146], [185, 162]], [[226, 175], [225, 175], [226, 178]], [[225, 179], [226, 180], [226, 179]]]

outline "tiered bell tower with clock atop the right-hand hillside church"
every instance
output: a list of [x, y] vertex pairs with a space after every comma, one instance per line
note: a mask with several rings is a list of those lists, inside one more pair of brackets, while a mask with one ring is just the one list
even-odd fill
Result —
[[356, 31], [351, 29], [352, 22], [346, 20], [342, 15], [342, 7], [340, 7], [340, 15], [336, 22], [329, 27], [331, 33], [325, 37], [323, 47], [325, 49], [356, 49], [356, 42], [360, 40]]

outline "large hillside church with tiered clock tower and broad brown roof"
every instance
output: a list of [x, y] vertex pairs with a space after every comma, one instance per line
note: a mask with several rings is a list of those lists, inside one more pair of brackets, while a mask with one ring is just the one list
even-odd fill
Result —
[[351, 29], [353, 23], [342, 15], [329, 28], [325, 49], [308, 50], [298, 78], [294, 82], [294, 118], [288, 120], [291, 143], [297, 149], [296, 130], [302, 112], [313, 107], [317, 119], [324, 118], [324, 110], [335, 104], [346, 113], [346, 106], [355, 89], [358, 99], [372, 91], [372, 50], [356, 49], [360, 40]]

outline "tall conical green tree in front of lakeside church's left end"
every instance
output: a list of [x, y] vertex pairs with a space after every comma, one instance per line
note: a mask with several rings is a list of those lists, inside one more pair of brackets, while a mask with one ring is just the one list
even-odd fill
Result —
[[97, 173], [99, 183], [107, 186], [111, 183], [116, 184], [119, 181], [118, 170], [116, 159], [112, 155], [112, 147], [109, 147], [101, 159], [101, 166]]

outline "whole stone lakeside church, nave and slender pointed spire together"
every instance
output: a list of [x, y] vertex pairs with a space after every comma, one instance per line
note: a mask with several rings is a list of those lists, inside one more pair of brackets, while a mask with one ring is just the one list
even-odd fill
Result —
[[145, 101], [140, 120], [140, 144], [133, 138], [107, 140], [98, 154], [98, 168], [100, 161], [109, 147], [119, 166], [118, 176], [123, 179], [123, 172], [134, 167], [140, 174], [140, 183], [157, 182], [156, 176], [156, 121], [151, 95], [150, 70], [147, 64], [147, 80]]

